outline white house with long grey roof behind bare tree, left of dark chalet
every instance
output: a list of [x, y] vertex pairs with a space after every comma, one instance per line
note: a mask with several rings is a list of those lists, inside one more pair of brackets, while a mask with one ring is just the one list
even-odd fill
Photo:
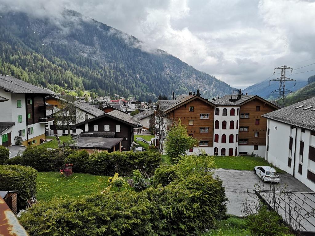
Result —
[[[70, 122], [71, 124], [73, 122], [79, 123], [86, 119], [91, 119], [96, 116], [105, 114], [104, 111], [88, 104], [87, 102], [75, 101], [73, 96], [48, 96], [46, 98], [46, 101], [49, 102], [49, 104], [54, 105], [54, 109], [52, 111], [47, 111], [47, 115], [54, 115], [55, 117], [58, 117], [58, 113], [65, 112], [65, 110], [71, 108], [71, 106], [67, 107], [66, 104], [68, 103], [73, 104], [75, 112], [72, 113], [73, 116], [75, 117], [73, 117], [72, 122]], [[70, 116], [71, 114], [69, 114], [69, 118]], [[65, 127], [65, 121], [61, 121], [61, 119], [58, 118], [55, 119], [54, 122], [49, 122], [49, 124], [47, 124], [47, 129], [49, 130], [49, 134], [51, 136], [54, 134], [68, 135], [68, 130]], [[83, 132], [83, 130], [80, 129], [70, 130], [70, 134], [79, 134], [81, 132]]]

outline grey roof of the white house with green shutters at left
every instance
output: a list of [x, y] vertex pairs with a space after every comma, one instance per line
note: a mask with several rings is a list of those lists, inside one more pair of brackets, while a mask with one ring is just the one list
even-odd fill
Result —
[[54, 94], [54, 92], [48, 89], [37, 87], [23, 80], [7, 75], [0, 75], [0, 88], [3, 88], [11, 93]]

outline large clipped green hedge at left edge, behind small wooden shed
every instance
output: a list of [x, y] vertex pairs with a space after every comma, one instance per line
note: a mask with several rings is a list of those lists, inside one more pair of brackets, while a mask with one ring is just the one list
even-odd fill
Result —
[[0, 189], [18, 190], [18, 209], [27, 205], [31, 189], [36, 192], [37, 171], [31, 167], [18, 165], [0, 165]]

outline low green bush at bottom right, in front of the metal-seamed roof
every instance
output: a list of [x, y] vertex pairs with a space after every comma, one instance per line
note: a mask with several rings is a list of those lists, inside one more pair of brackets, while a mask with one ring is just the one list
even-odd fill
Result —
[[246, 218], [247, 228], [255, 235], [281, 235], [286, 228], [280, 223], [281, 217], [275, 211], [268, 211], [262, 205], [257, 214]]

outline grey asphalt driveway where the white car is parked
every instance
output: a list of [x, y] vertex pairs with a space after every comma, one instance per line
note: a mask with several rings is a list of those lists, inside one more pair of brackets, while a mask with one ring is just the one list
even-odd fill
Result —
[[[257, 189], [255, 184], [260, 183], [261, 188], [265, 190], [269, 189], [270, 186], [270, 183], [261, 183], [260, 178], [254, 174], [254, 171], [217, 169], [214, 176], [218, 176], [223, 181], [226, 196], [230, 201], [226, 204], [227, 213], [234, 216], [243, 216], [242, 203], [245, 198], [247, 198], [249, 202], [257, 201], [256, 194], [253, 191], [253, 189]], [[288, 185], [285, 189], [287, 191], [312, 192], [311, 189], [307, 188], [290, 174], [279, 173], [279, 176], [281, 184]], [[280, 183], [276, 185], [280, 186]]]

